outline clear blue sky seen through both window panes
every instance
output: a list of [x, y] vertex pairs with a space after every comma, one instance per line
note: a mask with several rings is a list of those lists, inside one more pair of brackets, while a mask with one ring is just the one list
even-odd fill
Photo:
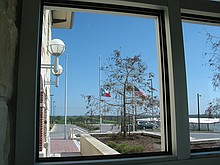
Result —
[[[201, 94], [201, 109], [214, 97], [210, 75], [202, 53], [206, 51], [204, 29], [219, 34], [220, 28], [183, 24], [184, 45], [187, 65], [189, 113], [197, 112], [196, 94]], [[101, 64], [120, 50], [122, 56], [141, 54], [148, 72], [153, 72], [154, 95], [159, 95], [158, 52], [156, 41], [156, 19], [91, 14], [76, 12], [72, 29], [52, 29], [52, 38], [59, 38], [66, 44], [65, 53], [60, 56], [60, 64], [65, 69], [65, 55], [68, 54], [68, 115], [84, 115], [86, 102], [83, 95], [99, 95], [99, 56]], [[64, 72], [65, 73], [65, 72]], [[64, 115], [65, 74], [59, 77], [59, 87], [51, 87], [54, 94], [55, 115]], [[101, 73], [101, 82], [106, 76]], [[108, 98], [112, 99], [112, 98]]]

